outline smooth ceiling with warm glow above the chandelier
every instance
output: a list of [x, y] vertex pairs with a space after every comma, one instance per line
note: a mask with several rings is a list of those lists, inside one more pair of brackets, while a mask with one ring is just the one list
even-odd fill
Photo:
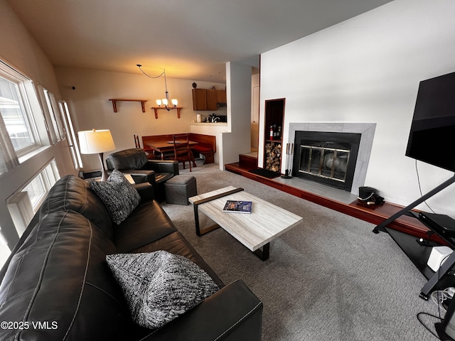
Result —
[[[55, 66], [225, 82], [259, 55], [390, 0], [6, 0]], [[161, 69], [161, 70], [160, 70]]]

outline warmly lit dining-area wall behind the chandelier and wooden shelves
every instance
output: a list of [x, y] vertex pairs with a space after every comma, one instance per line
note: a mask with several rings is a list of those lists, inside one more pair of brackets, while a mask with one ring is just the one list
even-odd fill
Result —
[[[192, 131], [191, 124], [196, 120], [196, 114], [207, 117], [212, 113], [193, 111], [193, 81], [167, 77], [169, 96], [178, 99], [178, 107], [183, 108], [181, 118], [178, 119], [175, 109], [170, 112], [161, 109], [158, 119], [155, 119], [151, 107], [156, 107], [156, 99], [164, 98], [164, 77], [151, 79], [141, 73], [133, 75], [73, 67], [55, 67], [55, 72], [60, 92], [74, 115], [75, 130], [110, 129], [115, 151], [134, 148], [134, 135]], [[196, 82], [201, 89], [210, 89], [214, 85], [218, 90], [225, 90], [225, 84]], [[146, 99], [146, 112], [142, 112], [140, 102], [117, 102], [117, 112], [114, 112], [109, 101], [111, 98]], [[215, 114], [226, 114], [226, 109], [218, 109]], [[205, 131], [205, 134], [210, 134], [210, 129]], [[214, 129], [213, 135], [217, 133]], [[105, 157], [112, 152], [105, 153]], [[100, 164], [96, 155], [82, 155], [82, 162], [86, 171], [96, 170]]]

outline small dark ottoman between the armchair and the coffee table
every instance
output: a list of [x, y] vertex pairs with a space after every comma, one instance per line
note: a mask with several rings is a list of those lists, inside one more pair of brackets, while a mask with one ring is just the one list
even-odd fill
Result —
[[164, 183], [168, 204], [188, 205], [188, 197], [198, 195], [193, 175], [176, 175]]

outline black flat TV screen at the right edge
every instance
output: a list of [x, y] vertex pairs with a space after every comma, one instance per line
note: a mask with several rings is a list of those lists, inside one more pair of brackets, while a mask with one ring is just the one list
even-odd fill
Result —
[[455, 172], [455, 72], [420, 82], [406, 156]]

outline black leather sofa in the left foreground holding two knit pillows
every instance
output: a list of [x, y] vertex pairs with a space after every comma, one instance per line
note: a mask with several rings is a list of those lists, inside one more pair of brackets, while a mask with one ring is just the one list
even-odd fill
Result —
[[[143, 198], [151, 186], [139, 185]], [[191, 219], [188, 217], [188, 223]], [[132, 322], [107, 254], [166, 250], [204, 269], [219, 291], [158, 330]], [[121, 224], [85, 180], [53, 186], [0, 272], [0, 340], [260, 340], [262, 302], [241, 280], [225, 286], [156, 200]]]

